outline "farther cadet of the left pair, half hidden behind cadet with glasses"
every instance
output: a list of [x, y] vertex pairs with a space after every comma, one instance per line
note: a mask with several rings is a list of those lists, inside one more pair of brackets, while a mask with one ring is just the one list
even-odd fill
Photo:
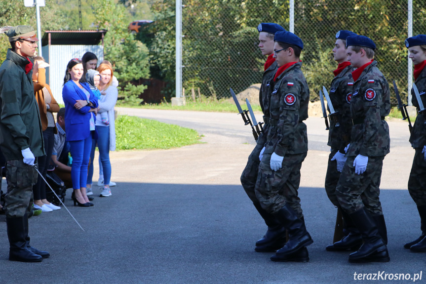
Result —
[[273, 77], [275, 76], [278, 68], [275, 59], [272, 58], [273, 36], [276, 32], [285, 30], [280, 25], [274, 23], [261, 23], [257, 27], [257, 30], [259, 32], [259, 48], [262, 55], [268, 55], [268, 59], [265, 63], [262, 85], [259, 92], [259, 101], [264, 113], [265, 124], [263, 127], [263, 133], [259, 135], [259, 138], [256, 141], [256, 147], [248, 157], [247, 165], [245, 166], [240, 179], [245, 192], [268, 226], [268, 231], [265, 236], [256, 242], [255, 250], [258, 252], [270, 252], [275, 251], [284, 245], [285, 229], [272, 214], [262, 208], [254, 192], [254, 188], [256, 185], [257, 175], [259, 173], [259, 155], [262, 148], [264, 148], [266, 136], [270, 127], [269, 102], [271, 98], [271, 86], [273, 85]]

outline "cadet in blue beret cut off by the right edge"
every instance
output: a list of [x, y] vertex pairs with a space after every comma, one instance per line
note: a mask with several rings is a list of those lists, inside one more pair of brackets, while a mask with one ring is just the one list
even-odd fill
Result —
[[[405, 40], [414, 64], [414, 79], [423, 105], [426, 106], [426, 35], [418, 35]], [[420, 111], [414, 90], [411, 89], [411, 102]], [[426, 124], [423, 114], [418, 114], [411, 130], [410, 143], [415, 149], [413, 166], [408, 179], [408, 192], [417, 205], [421, 219], [422, 235], [413, 242], [404, 244], [414, 252], [426, 251]]]

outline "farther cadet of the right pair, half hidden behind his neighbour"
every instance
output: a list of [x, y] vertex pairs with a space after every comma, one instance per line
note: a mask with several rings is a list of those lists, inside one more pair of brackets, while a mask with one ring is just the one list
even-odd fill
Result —
[[355, 69], [347, 61], [346, 38], [349, 36], [356, 36], [356, 34], [346, 30], [338, 31], [333, 48], [334, 60], [339, 65], [333, 71], [335, 77], [331, 81], [329, 96], [334, 110], [338, 112], [336, 115], [338, 116], [339, 125], [336, 126], [336, 122], [330, 119], [327, 145], [331, 148], [325, 176], [325, 191], [331, 203], [337, 206], [338, 210], [342, 213], [345, 237], [334, 244], [327, 245], [326, 249], [329, 251], [347, 250], [353, 247], [358, 248], [362, 243], [361, 235], [359, 235], [359, 232], [356, 232], [349, 215], [340, 208], [336, 197], [336, 186], [347, 159], [345, 157], [345, 148], [350, 142], [350, 130], [352, 129], [350, 99], [353, 87], [352, 71]]

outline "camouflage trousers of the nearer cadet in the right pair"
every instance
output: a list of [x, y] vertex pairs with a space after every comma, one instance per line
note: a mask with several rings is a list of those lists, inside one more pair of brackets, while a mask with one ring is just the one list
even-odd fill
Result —
[[340, 206], [349, 214], [365, 207], [371, 215], [383, 215], [379, 187], [384, 158], [368, 157], [367, 169], [360, 175], [355, 173], [353, 166], [355, 157], [346, 160], [336, 187], [336, 196]]

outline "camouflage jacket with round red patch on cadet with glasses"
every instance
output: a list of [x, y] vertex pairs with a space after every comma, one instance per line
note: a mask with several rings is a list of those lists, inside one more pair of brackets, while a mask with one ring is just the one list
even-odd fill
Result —
[[271, 128], [265, 154], [285, 156], [308, 152], [304, 120], [308, 118], [309, 87], [297, 62], [278, 76], [271, 92]]

